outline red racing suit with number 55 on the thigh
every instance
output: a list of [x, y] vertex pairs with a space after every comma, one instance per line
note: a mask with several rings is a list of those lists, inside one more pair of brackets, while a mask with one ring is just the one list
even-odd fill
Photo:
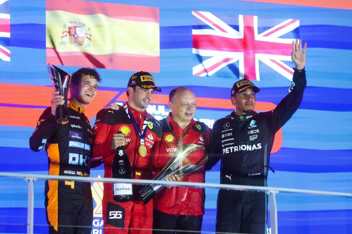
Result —
[[[139, 126], [145, 127], [144, 146], [146, 155], [140, 155], [138, 148], [141, 139], [134, 129], [133, 123], [126, 112], [133, 114]], [[103, 109], [98, 112], [94, 126], [94, 144], [92, 161], [104, 161], [105, 178], [112, 177], [112, 163], [115, 150], [111, 149], [113, 134], [121, 131], [125, 135], [125, 151], [132, 166], [132, 178], [151, 179], [151, 152], [158, 149], [161, 140], [161, 124], [146, 111], [137, 111], [127, 104], [119, 110]], [[113, 199], [112, 183], [104, 183], [103, 220], [104, 233], [151, 233], [153, 222], [153, 202], [146, 205], [137, 195], [143, 185], [133, 185], [133, 201], [115, 202]], [[118, 214], [118, 215], [117, 215]], [[120, 215], [121, 214], [121, 215]]]

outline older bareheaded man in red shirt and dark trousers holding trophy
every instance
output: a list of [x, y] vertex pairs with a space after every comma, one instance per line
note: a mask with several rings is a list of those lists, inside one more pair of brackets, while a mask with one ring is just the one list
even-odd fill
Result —
[[[162, 139], [157, 158], [157, 171], [164, 168], [175, 151], [183, 144], [196, 144], [204, 147], [204, 149], [191, 152], [184, 160], [188, 161], [185, 164], [199, 162], [206, 155], [211, 134], [207, 125], [193, 119], [196, 111], [196, 98], [190, 89], [177, 87], [171, 90], [169, 107], [171, 112], [161, 121]], [[202, 166], [183, 175], [179, 180], [204, 183], [205, 167]], [[175, 230], [178, 230], [177, 233], [183, 233], [182, 230], [200, 233], [204, 202], [204, 188], [162, 188], [154, 197], [153, 229], [164, 230], [154, 230], [153, 233], [174, 233]]]

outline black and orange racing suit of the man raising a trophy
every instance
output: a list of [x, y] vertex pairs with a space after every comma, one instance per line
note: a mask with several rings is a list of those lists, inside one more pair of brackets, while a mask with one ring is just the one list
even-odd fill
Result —
[[[63, 125], [55, 122], [51, 107], [43, 112], [30, 137], [30, 147], [33, 151], [46, 149], [49, 175], [89, 176], [92, 127], [84, 109], [72, 102], [68, 107], [70, 119]], [[91, 183], [46, 181], [45, 208], [49, 233], [91, 233]]]

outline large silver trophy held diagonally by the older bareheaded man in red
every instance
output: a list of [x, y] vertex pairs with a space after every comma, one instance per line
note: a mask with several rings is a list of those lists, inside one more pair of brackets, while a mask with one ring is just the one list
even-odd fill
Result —
[[[204, 146], [196, 145], [196, 144], [181, 145], [180, 148], [171, 157], [171, 159], [167, 162], [166, 166], [153, 180], [163, 181], [163, 180], [166, 180], [166, 176], [169, 174], [183, 176], [197, 170], [208, 161], [208, 155], [204, 154], [201, 160], [199, 160], [196, 164], [191, 164], [189, 160], [187, 160], [186, 156], [189, 153], [200, 149], [204, 149]], [[188, 164], [182, 166], [184, 163], [188, 163]], [[165, 185], [160, 185], [160, 184], [151, 184], [151, 185], [144, 186], [138, 192], [143, 203], [146, 204], [164, 186]]]

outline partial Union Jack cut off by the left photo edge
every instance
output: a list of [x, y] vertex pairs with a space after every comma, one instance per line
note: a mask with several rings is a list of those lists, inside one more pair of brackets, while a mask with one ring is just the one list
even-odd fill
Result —
[[10, 61], [10, 3], [0, 0], [0, 60]]

